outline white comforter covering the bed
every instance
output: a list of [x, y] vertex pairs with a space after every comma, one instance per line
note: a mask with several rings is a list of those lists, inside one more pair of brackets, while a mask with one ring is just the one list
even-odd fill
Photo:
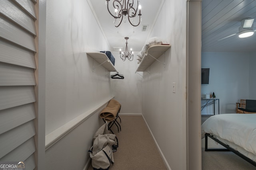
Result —
[[256, 114], [211, 116], [202, 124], [202, 138], [205, 133], [256, 161]]

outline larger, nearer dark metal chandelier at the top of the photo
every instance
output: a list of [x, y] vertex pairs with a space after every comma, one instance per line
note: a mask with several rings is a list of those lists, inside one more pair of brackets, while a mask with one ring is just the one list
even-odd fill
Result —
[[[110, 0], [106, 0], [106, 5], [108, 6], [108, 2]], [[137, 3], [135, 3], [137, 2]], [[136, 8], [134, 7], [136, 6]], [[119, 25], [121, 24], [122, 20], [123, 20], [123, 17], [124, 17], [124, 22], [126, 22], [126, 15], [128, 16], [128, 20], [130, 22], [130, 24], [134, 27], [138, 26], [140, 24], [140, 16], [142, 15], [140, 12], [141, 12], [141, 5], [140, 5], [140, 0], [127, 0], [127, 3], [126, 3], [126, 0], [114, 0], [113, 1], [113, 8], [114, 8], [114, 14], [112, 14], [112, 12], [110, 12], [109, 10], [109, 6], [108, 6], [108, 12], [110, 13], [110, 15], [112, 15], [115, 20], [114, 20], [114, 25], [115, 27], [119, 27]], [[136, 17], [137, 15], [137, 11], [139, 9], [139, 23], [136, 25], [134, 24], [134, 18]], [[116, 24], [116, 19], [120, 19], [121, 18], [121, 21]], [[132, 21], [131, 21], [132, 20]]]

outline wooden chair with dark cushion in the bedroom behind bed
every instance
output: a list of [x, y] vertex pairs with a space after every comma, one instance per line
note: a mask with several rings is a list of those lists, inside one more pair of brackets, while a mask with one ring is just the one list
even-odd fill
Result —
[[250, 105], [252, 106], [246, 107], [245, 99], [241, 99], [240, 103], [236, 103], [236, 113], [256, 113], [256, 110], [254, 109], [256, 106], [256, 100], [255, 100], [255, 104], [252, 104], [252, 101], [254, 100], [248, 100], [248, 101], [250, 101]]

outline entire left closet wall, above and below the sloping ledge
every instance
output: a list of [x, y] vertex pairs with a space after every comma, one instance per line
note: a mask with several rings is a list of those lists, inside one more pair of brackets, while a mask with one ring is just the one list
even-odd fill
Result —
[[[45, 123], [48, 139], [50, 134], [70, 121], [106, 102], [111, 98], [112, 90], [109, 74], [106, 76], [108, 71], [86, 55], [86, 52], [109, 50], [87, 1], [48, 0], [44, 12]], [[94, 67], [98, 66], [94, 71], [93, 64]], [[92, 137], [103, 124], [99, 111], [78, 123], [60, 141], [47, 148], [46, 169], [84, 168]]]

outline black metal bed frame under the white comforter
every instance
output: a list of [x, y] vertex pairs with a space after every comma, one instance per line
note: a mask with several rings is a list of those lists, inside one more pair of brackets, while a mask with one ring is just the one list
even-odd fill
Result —
[[[222, 145], [226, 149], [208, 149], [208, 137], [210, 137], [211, 139], [213, 139], [214, 141], [216, 141], [217, 143], [219, 143], [220, 145]], [[246, 160], [247, 162], [249, 162], [250, 164], [256, 166], [256, 162], [254, 162], [250, 158], [244, 156], [243, 154], [241, 154], [237, 150], [234, 150], [233, 148], [231, 148], [230, 146], [226, 145], [222, 141], [216, 139], [213, 135], [210, 135], [209, 133], [205, 133], [205, 148], [204, 148], [204, 151], [232, 151], [235, 154], [237, 154], [238, 156], [240, 156], [241, 158], [243, 158], [244, 160]]]

